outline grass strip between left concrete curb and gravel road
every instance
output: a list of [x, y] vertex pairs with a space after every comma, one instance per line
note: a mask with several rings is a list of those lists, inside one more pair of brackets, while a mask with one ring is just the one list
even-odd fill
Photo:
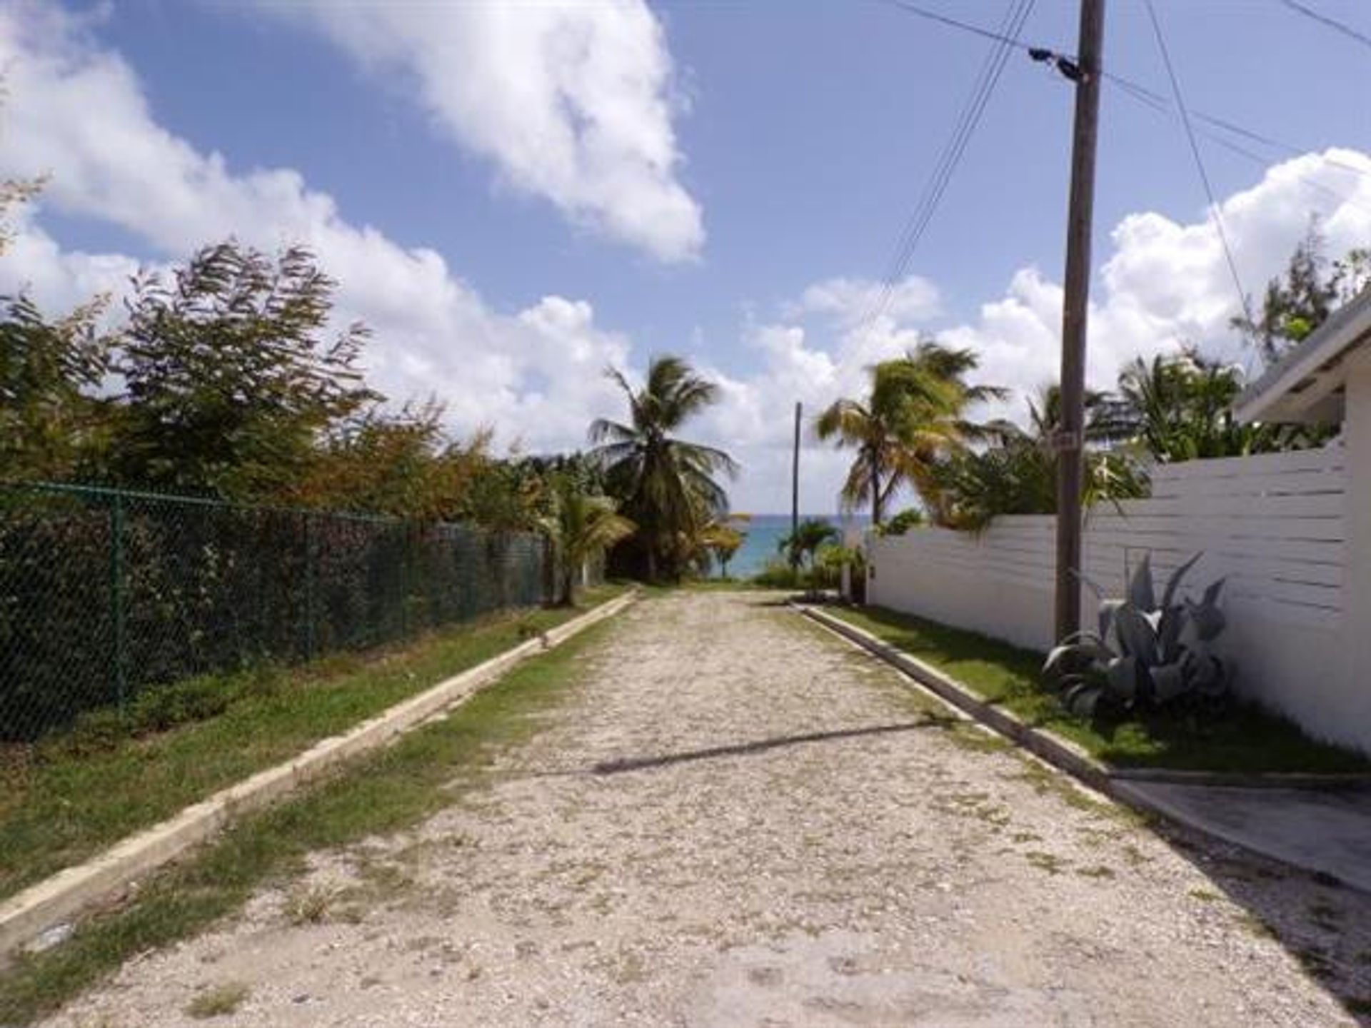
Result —
[[574, 687], [590, 651], [611, 628], [613, 621], [600, 622], [531, 658], [447, 718], [244, 818], [185, 864], [151, 879], [128, 906], [81, 924], [62, 946], [19, 957], [0, 973], [0, 1024], [27, 1024], [134, 954], [207, 928], [263, 884], [298, 873], [311, 850], [396, 832], [458, 802], [485, 781], [498, 750], [537, 731], [540, 715]]

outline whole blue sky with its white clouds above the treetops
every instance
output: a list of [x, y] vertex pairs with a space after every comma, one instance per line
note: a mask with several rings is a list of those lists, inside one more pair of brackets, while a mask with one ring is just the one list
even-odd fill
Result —
[[[1008, 0], [924, 5], [994, 26]], [[1309, 0], [1371, 34], [1356, 0]], [[1158, 0], [1191, 107], [1287, 141], [1201, 138], [1243, 285], [1311, 214], [1371, 243], [1371, 48], [1279, 0]], [[860, 388], [919, 330], [1031, 389], [1056, 365], [1071, 88], [1017, 55], [887, 315], [862, 321], [990, 44], [871, 3], [0, 5], [8, 173], [47, 173], [0, 284], [60, 310], [234, 233], [303, 238], [377, 337], [392, 396], [455, 432], [577, 445], [606, 362], [677, 351], [724, 403], [740, 509], [788, 500], [795, 399]], [[1075, 4], [1024, 38], [1073, 49]], [[1106, 66], [1168, 93], [1146, 8]], [[1328, 155], [1330, 148], [1338, 148]], [[218, 155], [218, 156], [215, 156]], [[1179, 341], [1233, 352], [1237, 296], [1179, 122], [1106, 88], [1091, 376]], [[1020, 400], [1013, 402], [1016, 407]], [[809, 445], [805, 506], [842, 456]]]

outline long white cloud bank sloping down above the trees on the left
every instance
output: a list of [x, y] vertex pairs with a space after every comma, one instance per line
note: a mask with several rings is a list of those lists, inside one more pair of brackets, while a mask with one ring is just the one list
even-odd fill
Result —
[[[376, 329], [369, 373], [391, 396], [435, 392], [455, 429], [496, 425], [505, 443], [528, 448], [576, 444], [613, 402], [600, 371], [628, 359], [628, 341], [600, 329], [590, 303], [547, 296], [502, 314], [440, 254], [347, 221], [299, 173], [236, 171], [197, 151], [152, 119], [134, 71], [88, 29], [58, 8], [0, 10], [10, 89], [0, 173], [51, 173], [38, 204], [19, 215], [0, 286], [60, 311], [93, 293], [118, 296], [140, 266], [230, 234], [263, 248], [304, 243], [340, 282], [339, 322]], [[117, 225], [148, 254], [63, 251], [41, 223], [49, 207]]]

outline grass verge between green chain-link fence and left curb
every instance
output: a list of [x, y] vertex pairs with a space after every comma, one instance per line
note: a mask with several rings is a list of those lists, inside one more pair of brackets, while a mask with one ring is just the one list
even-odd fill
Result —
[[[149, 722], [186, 724], [130, 736], [126, 725], [97, 718], [22, 759], [11, 758], [0, 769], [0, 898], [81, 864], [620, 591], [592, 589], [577, 610], [511, 611], [389, 651], [182, 683], [140, 703]], [[214, 706], [206, 710], [207, 703]], [[193, 720], [197, 715], [204, 720]]]

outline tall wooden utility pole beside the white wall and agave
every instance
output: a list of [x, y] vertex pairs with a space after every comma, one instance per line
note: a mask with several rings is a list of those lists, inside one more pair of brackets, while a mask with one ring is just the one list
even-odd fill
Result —
[[1057, 603], [1060, 641], [1080, 628], [1080, 481], [1084, 463], [1086, 321], [1090, 310], [1090, 232], [1095, 201], [1095, 134], [1105, 0], [1080, 0], [1076, 121], [1071, 145], [1067, 281], [1061, 315], [1061, 425], [1057, 450]]

